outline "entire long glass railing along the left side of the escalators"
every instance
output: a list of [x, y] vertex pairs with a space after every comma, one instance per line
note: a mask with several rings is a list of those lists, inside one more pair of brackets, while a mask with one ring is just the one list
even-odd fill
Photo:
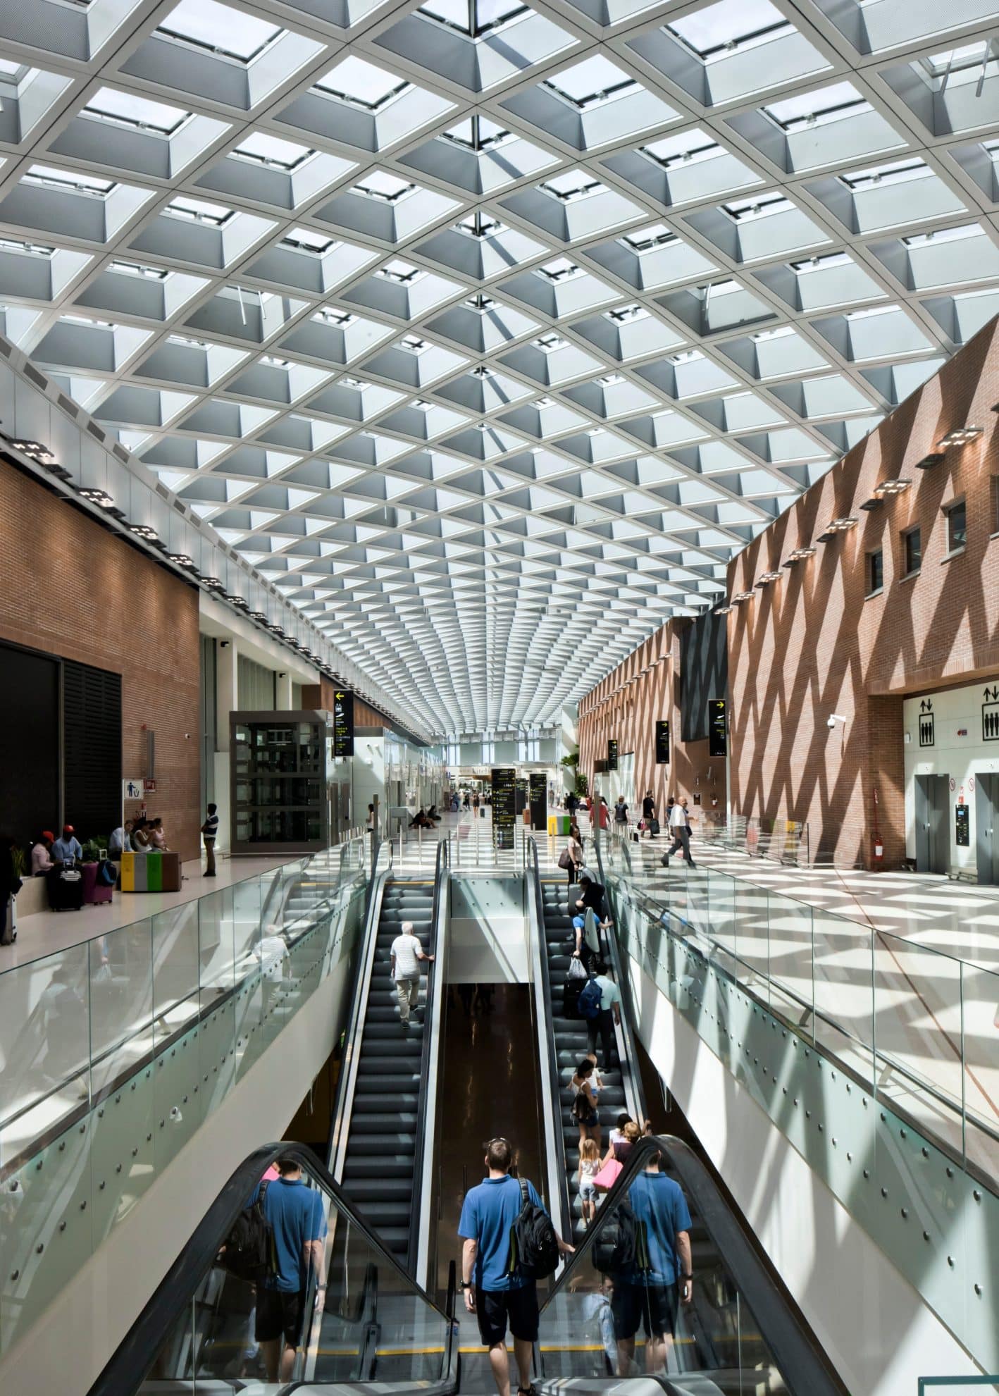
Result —
[[361, 860], [339, 845], [0, 973], [0, 1353], [350, 955]]

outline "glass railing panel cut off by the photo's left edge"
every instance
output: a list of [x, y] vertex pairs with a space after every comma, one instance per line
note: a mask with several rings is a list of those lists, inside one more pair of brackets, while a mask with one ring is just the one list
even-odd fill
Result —
[[0, 1167], [88, 1106], [89, 994], [85, 944], [0, 976]]

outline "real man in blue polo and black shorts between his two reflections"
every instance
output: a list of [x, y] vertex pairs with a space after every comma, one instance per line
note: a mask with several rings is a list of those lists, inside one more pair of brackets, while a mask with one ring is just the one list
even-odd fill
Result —
[[[490, 1139], [486, 1146], [488, 1177], [465, 1194], [458, 1234], [462, 1247], [462, 1290], [465, 1308], [479, 1319], [479, 1333], [490, 1350], [490, 1367], [500, 1396], [509, 1396], [506, 1325], [513, 1335], [513, 1357], [519, 1376], [518, 1396], [533, 1396], [530, 1385], [532, 1347], [537, 1342], [537, 1286], [533, 1277], [511, 1273], [511, 1227], [523, 1198], [520, 1184], [511, 1178], [513, 1150], [506, 1139]], [[534, 1206], [541, 1199], [527, 1182]], [[562, 1255], [572, 1247], [558, 1241]]]

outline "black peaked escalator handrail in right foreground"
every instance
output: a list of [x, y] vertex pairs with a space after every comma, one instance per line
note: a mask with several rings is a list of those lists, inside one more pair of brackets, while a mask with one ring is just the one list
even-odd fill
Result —
[[[710, 1170], [689, 1145], [674, 1135], [654, 1135], [639, 1139], [607, 1201], [597, 1213], [597, 1222], [576, 1247], [576, 1254], [559, 1275], [541, 1305], [541, 1318], [550, 1304], [569, 1291], [600, 1231], [600, 1217], [628, 1191], [646, 1160], [659, 1150], [663, 1161], [677, 1175], [688, 1202], [710, 1235], [731, 1280], [759, 1325], [759, 1332], [773, 1360], [786, 1379], [788, 1390], [808, 1392], [809, 1396], [846, 1396], [846, 1388], [815, 1342], [804, 1319], [788, 1301], [779, 1279], [746, 1234], [742, 1219], [731, 1209]], [[695, 1273], [695, 1284], [698, 1276]]]

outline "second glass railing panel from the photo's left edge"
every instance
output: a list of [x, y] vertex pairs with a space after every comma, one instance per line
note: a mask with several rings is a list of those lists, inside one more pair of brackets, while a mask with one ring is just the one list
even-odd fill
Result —
[[88, 942], [91, 1090], [103, 1094], [153, 1050], [152, 921]]

